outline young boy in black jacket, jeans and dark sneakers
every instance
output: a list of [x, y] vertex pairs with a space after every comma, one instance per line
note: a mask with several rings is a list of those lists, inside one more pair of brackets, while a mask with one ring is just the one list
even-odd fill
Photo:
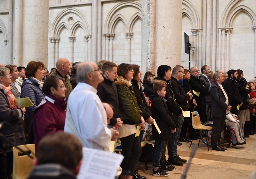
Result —
[[164, 151], [164, 142], [171, 138], [171, 133], [176, 132], [176, 125], [169, 116], [168, 107], [164, 96], [166, 84], [162, 81], [156, 81], [153, 85], [154, 94], [152, 99], [152, 117], [156, 120], [161, 133], [152, 125], [151, 140], [155, 140], [152, 152], [153, 159], [153, 176], [168, 176], [167, 170], [160, 168], [160, 159]]

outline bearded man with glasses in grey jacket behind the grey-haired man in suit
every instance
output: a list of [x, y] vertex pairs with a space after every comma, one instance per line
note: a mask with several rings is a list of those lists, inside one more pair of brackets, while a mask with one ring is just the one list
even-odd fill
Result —
[[[208, 91], [204, 94], [205, 98], [205, 106], [206, 108], [211, 108], [211, 96], [209, 93], [210, 87], [212, 86], [211, 79], [208, 77], [211, 73], [211, 69], [209, 66], [204, 65], [201, 68], [202, 73], [200, 74], [200, 80], [202, 80], [203, 85], [208, 88]], [[206, 110], [206, 116], [207, 116], [207, 121], [210, 120], [210, 110]]]

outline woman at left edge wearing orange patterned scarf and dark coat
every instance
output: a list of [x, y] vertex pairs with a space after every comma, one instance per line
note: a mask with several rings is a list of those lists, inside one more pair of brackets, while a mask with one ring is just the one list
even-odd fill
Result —
[[[9, 140], [13, 141], [15, 145], [23, 145], [25, 143], [25, 135], [23, 127], [20, 121], [21, 116], [26, 111], [24, 108], [20, 109], [14, 103], [14, 95], [11, 92], [11, 81], [12, 76], [10, 74], [9, 68], [0, 68], [0, 123], [8, 121], [11, 126], [3, 123], [2, 128], [5, 128], [3, 133]], [[3, 130], [1, 130], [3, 132]], [[6, 152], [7, 152], [7, 175], [10, 171], [12, 164], [12, 145], [6, 143]], [[1, 144], [2, 146], [2, 144]], [[0, 147], [0, 176], [3, 177], [3, 151]]]

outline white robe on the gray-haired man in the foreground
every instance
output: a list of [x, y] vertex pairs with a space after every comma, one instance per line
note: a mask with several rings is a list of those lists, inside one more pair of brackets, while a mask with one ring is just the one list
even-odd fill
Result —
[[[97, 89], [87, 83], [77, 84], [68, 97], [72, 119], [66, 116], [64, 132], [78, 134], [88, 148], [109, 151], [112, 132], [107, 127], [107, 114], [96, 93]], [[77, 133], [68, 125], [68, 120], [73, 120]]]

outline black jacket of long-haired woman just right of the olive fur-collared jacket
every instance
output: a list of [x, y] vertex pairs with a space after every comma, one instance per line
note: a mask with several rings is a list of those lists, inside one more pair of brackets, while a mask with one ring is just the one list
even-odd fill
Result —
[[132, 82], [133, 90], [137, 96], [138, 106], [139, 106], [140, 110], [142, 111], [144, 120], [146, 121], [151, 116], [151, 113], [149, 111], [148, 104], [146, 102], [144, 93], [141, 89], [141, 86], [139, 88], [139, 85], [136, 80], [132, 79], [131, 82]]

